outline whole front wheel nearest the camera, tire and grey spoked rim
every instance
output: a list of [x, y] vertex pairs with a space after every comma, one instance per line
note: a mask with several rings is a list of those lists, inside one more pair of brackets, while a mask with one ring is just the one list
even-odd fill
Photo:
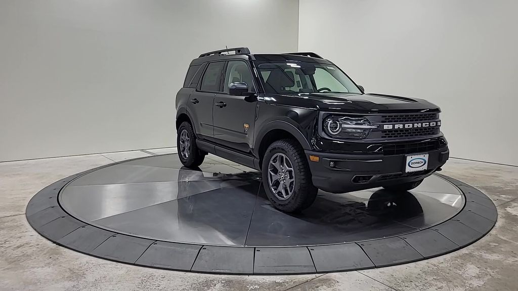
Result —
[[291, 139], [274, 141], [263, 157], [263, 183], [272, 205], [284, 212], [297, 212], [311, 206], [318, 189], [304, 150]]

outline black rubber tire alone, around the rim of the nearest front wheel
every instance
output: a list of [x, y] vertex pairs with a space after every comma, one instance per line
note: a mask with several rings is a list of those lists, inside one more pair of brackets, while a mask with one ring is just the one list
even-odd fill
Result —
[[[293, 166], [294, 191], [286, 200], [277, 198], [268, 183], [268, 165], [276, 153], [284, 154]], [[261, 169], [266, 196], [275, 208], [283, 212], [299, 212], [310, 207], [315, 200], [318, 189], [313, 186], [308, 159], [296, 140], [281, 139], [272, 142], [264, 154]]]

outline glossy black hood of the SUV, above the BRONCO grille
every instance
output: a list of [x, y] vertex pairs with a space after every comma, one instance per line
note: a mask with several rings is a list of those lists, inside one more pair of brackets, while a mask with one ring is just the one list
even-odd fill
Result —
[[439, 107], [423, 99], [384, 94], [300, 93], [298, 95], [267, 94], [266, 103], [348, 113], [439, 111]]

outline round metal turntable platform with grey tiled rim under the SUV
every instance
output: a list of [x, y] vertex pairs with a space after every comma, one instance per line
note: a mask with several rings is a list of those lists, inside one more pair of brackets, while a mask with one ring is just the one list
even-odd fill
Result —
[[455, 251], [494, 226], [475, 188], [434, 174], [415, 190], [319, 192], [299, 214], [273, 208], [259, 172], [176, 154], [91, 169], [38, 192], [28, 222], [47, 239], [127, 264], [182, 271], [275, 274], [357, 270]]

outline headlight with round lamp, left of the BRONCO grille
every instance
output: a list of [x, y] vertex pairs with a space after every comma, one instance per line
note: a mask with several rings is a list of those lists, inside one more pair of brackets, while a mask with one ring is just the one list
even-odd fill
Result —
[[349, 116], [329, 116], [324, 119], [323, 127], [326, 134], [339, 139], [366, 138], [372, 129], [378, 128], [365, 117]]

